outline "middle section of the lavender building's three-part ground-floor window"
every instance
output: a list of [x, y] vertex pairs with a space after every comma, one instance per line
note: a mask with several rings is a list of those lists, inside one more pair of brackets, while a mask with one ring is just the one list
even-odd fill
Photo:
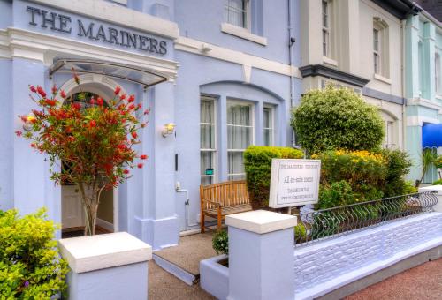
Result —
[[246, 177], [242, 154], [253, 144], [253, 107], [239, 101], [227, 102], [227, 163], [228, 180]]

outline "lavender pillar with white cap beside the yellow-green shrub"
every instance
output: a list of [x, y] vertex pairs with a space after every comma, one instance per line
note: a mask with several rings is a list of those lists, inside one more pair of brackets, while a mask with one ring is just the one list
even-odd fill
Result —
[[71, 268], [71, 300], [148, 298], [148, 261], [152, 247], [126, 232], [58, 241]]

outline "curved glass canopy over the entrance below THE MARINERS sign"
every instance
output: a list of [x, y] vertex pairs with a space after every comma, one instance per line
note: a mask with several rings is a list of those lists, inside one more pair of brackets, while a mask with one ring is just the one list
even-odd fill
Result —
[[116, 79], [124, 79], [138, 83], [145, 88], [168, 80], [168, 76], [159, 71], [91, 59], [58, 59], [49, 69], [50, 76], [56, 72], [72, 71], [79, 74], [100, 74]]

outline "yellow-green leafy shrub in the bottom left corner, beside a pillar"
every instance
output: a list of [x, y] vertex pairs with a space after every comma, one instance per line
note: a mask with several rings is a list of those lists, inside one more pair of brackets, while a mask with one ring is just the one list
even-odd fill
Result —
[[50, 299], [65, 288], [67, 263], [60, 259], [45, 210], [20, 217], [0, 215], [0, 299]]

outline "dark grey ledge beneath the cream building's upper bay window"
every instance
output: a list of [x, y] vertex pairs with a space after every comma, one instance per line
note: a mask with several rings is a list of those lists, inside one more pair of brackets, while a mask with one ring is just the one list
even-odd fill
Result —
[[300, 68], [302, 77], [315, 77], [322, 76], [328, 79], [335, 79], [338, 81], [345, 82], [353, 86], [365, 86], [369, 83], [369, 79], [364, 79], [362, 77], [356, 76], [354, 74], [347, 73], [345, 71], [340, 71], [335, 68], [331, 68], [324, 64], [309, 64]]

